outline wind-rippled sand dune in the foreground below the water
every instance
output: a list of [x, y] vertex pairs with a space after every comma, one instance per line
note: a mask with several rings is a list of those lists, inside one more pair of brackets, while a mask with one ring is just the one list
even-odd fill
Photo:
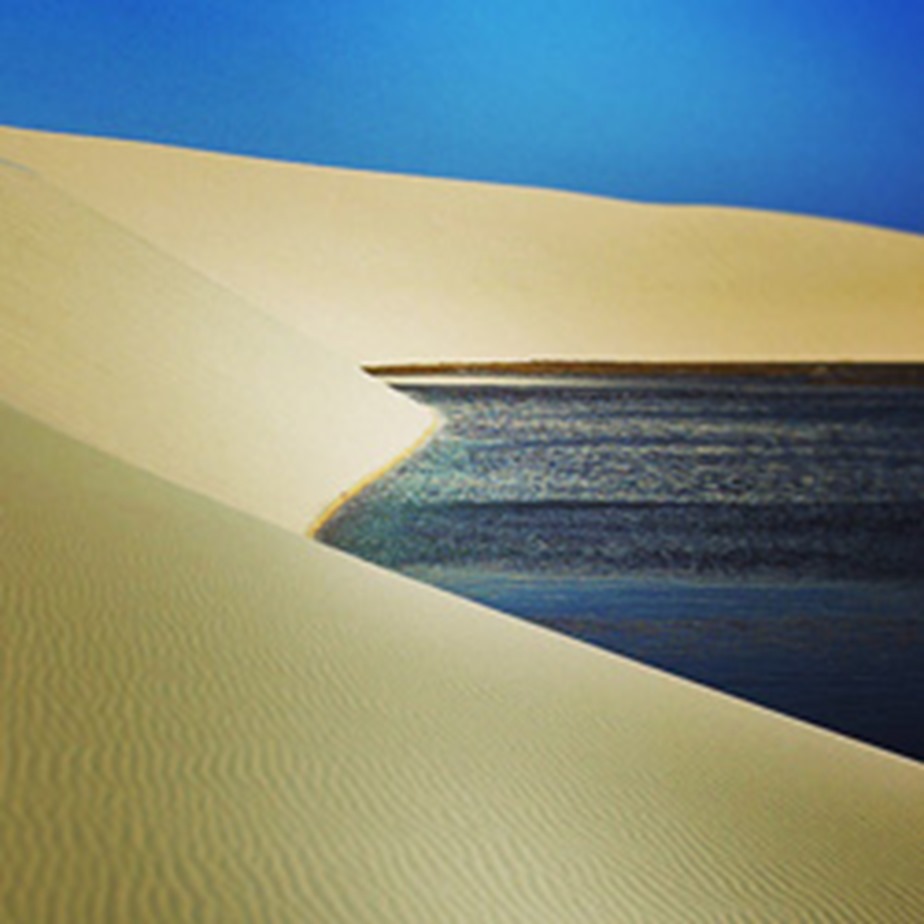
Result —
[[4, 920], [924, 913], [920, 765], [0, 427]]

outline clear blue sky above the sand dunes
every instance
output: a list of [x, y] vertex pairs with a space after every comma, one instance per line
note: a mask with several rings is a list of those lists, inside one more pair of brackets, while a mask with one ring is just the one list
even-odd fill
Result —
[[924, 0], [3, 0], [0, 122], [924, 232]]

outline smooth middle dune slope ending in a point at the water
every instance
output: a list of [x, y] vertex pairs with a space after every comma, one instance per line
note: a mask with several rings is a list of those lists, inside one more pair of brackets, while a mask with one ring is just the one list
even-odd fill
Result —
[[293, 529], [429, 422], [227, 289], [4, 166], [0, 396]]

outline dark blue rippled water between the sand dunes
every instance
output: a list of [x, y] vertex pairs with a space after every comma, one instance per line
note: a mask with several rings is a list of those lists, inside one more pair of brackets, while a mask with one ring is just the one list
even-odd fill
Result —
[[924, 760], [924, 389], [406, 390], [445, 427], [324, 541]]

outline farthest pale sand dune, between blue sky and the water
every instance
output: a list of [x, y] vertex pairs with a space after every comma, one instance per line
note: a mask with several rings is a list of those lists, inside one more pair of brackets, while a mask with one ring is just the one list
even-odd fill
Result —
[[11, 129], [0, 157], [355, 359], [924, 358], [920, 236]]

